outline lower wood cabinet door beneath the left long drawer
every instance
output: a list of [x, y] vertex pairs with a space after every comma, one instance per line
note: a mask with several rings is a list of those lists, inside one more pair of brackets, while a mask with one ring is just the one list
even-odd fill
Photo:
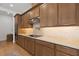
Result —
[[41, 45], [39, 43], [35, 43], [35, 55], [36, 56], [51, 56], [52, 49], [44, 45]]

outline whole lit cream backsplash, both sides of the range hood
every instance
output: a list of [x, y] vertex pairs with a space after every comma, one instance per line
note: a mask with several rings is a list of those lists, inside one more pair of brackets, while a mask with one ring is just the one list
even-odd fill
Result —
[[[40, 31], [36, 30], [35, 33], [60, 39], [79, 39], [79, 26], [46, 27], [41, 28]], [[33, 28], [22, 28], [19, 34], [33, 34]]]

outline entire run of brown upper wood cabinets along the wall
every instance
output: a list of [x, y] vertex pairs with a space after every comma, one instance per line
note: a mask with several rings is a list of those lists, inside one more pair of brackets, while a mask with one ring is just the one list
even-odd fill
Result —
[[[36, 5], [36, 4], [34, 4]], [[28, 23], [28, 19], [40, 16], [41, 27], [53, 27], [53, 26], [71, 26], [79, 25], [79, 4], [75, 3], [45, 3], [40, 4], [28, 12], [21, 15], [17, 14], [15, 19], [18, 21], [21, 27], [32, 27]], [[17, 20], [16, 20], [17, 23]], [[19, 27], [18, 26], [18, 27]]]

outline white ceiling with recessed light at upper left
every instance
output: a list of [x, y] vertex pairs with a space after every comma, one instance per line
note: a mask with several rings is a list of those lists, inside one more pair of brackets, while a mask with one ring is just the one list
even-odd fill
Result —
[[[12, 5], [12, 7], [11, 7]], [[27, 11], [29, 8], [32, 7], [31, 3], [0, 3], [0, 13], [5, 14], [4, 12], [2, 13], [3, 9], [7, 12], [12, 11], [14, 13], [20, 13], [22, 14], [23, 12]]]

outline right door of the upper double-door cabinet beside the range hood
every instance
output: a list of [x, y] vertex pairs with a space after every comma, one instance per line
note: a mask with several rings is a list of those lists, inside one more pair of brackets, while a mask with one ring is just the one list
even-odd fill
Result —
[[47, 26], [56, 26], [57, 25], [57, 4], [50, 3], [48, 4], [48, 20]]

